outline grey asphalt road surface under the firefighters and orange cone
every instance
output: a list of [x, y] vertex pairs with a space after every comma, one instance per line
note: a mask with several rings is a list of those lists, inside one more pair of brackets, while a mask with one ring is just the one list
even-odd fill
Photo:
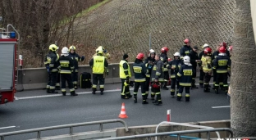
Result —
[[[199, 81], [199, 80], [197, 80]], [[61, 124], [74, 124], [98, 120], [118, 119], [121, 103], [126, 105], [128, 126], [159, 124], [167, 120], [167, 110], [171, 109], [172, 122], [197, 122], [208, 120], [230, 120], [230, 107], [225, 93], [203, 93], [203, 88], [190, 90], [190, 102], [176, 101], [170, 90], [162, 90], [162, 106], [141, 104], [133, 99], [121, 99], [121, 84], [106, 84], [104, 95], [93, 95], [91, 89], [78, 89], [77, 97], [67, 94], [47, 94], [45, 90], [31, 90], [16, 93], [16, 101], [0, 106], [0, 133], [35, 129]], [[133, 88], [131, 88], [132, 91]], [[132, 93], [132, 92], [131, 92]], [[150, 95], [149, 95], [150, 97]], [[103, 124], [103, 129], [122, 127], [122, 124]], [[79, 127], [74, 133], [98, 130], [98, 125]], [[42, 137], [68, 133], [68, 129], [51, 130], [42, 133]], [[36, 138], [36, 133], [10, 136], [5, 140]]]

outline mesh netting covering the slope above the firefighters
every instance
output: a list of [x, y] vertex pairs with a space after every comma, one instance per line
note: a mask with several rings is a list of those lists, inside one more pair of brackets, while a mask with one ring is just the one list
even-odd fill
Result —
[[148, 52], [151, 34], [151, 47], [159, 52], [167, 45], [172, 56], [185, 38], [199, 47], [231, 43], [234, 14], [235, 0], [112, 0], [75, 22], [75, 38], [106, 47], [119, 62], [123, 52]]

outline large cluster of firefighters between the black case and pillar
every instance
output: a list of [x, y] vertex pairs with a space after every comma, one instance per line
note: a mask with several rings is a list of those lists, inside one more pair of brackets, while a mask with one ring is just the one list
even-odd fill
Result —
[[[151, 86], [151, 100], [154, 105], [162, 105], [160, 89], [168, 90], [167, 82], [171, 79], [171, 97], [181, 101], [182, 93], [185, 88], [185, 102], [190, 102], [190, 89], [198, 88], [195, 86], [196, 68], [199, 65], [200, 78], [199, 85], [205, 93], [210, 92], [209, 81], [213, 76], [213, 89], [219, 93], [219, 87], [225, 93], [228, 90], [227, 78], [231, 70], [231, 51], [232, 46], [227, 48], [226, 43], [217, 46], [215, 52], [205, 43], [203, 51], [199, 53], [197, 46], [190, 47], [190, 39], [185, 38], [184, 46], [180, 52], [176, 52], [171, 60], [167, 56], [168, 47], [162, 47], [161, 53], [156, 54], [153, 49], [149, 50], [149, 56], [144, 61], [144, 53], [136, 56], [132, 71], [135, 76], [134, 81], [134, 102], [137, 103], [137, 93], [141, 88], [142, 104], [148, 104], [149, 87]], [[212, 54], [213, 52], [213, 54]], [[171, 75], [169, 75], [169, 70]], [[128, 55], [123, 56], [120, 61], [121, 78], [121, 98], [129, 99], [129, 85], [131, 81], [130, 67], [128, 64]], [[203, 81], [204, 79], [204, 81]]]

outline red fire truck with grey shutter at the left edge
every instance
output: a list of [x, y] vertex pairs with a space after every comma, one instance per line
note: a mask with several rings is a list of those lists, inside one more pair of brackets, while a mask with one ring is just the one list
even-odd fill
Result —
[[0, 28], [0, 104], [13, 102], [15, 99], [19, 42], [20, 34], [12, 25], [7, 25], [7, 29]]

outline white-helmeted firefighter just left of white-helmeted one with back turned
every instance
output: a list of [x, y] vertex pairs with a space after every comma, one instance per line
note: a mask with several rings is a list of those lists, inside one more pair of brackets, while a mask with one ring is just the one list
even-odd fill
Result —
[[180, 88], [179, 81], [176, 80], [176, 75], [181, 69], [181, 65], [183, 65], [183, 61], [181, 60], [180, 52], [174, 53], [174, 59], [168, 62], [167, 68], [171, 69], [171, 97], [174, 97], [175, 88], [177, 86], [176, 94], [178, 94], [178, 89]]

